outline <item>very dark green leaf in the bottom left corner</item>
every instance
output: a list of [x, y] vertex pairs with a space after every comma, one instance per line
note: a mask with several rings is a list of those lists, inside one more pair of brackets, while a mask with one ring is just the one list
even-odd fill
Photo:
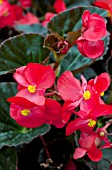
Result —
[[14, 148], [4, 148], [0, 151], [0, 170], [16, 170], [16, 151]]

